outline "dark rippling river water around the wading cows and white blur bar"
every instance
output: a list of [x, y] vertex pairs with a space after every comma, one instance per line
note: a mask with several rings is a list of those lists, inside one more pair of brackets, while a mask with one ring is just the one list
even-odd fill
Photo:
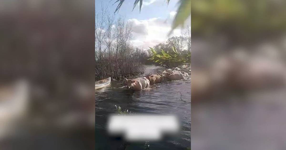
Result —
[[[153, 65], [145, 65], [145, 72], [156, 73], [163, 70]], [[142, 75], [143, 76], [143, 75]], [[116, 107], [128, 109], [136, 114], [175, 114], [181, 122], [180, 134], [171, 139], [149, 142], [150, 150], [187, 149], [191, 146], [191, 82], [170, 81], [150, 86], [142, 91], [130, 91], [112, 81], [109, 87], [96, 91], [96, 149], [146, 149], [145, 142], [129, 143], [122, 139], [111, 139], [106, 133], [108, 115], [116, 113]], [[187, 103], [186, 103], [187, 102]]]

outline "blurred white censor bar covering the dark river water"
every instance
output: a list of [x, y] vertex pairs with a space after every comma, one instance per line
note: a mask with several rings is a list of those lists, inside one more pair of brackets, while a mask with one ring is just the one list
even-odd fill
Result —
[[157, 141], [163, 134], [176, 134], [179, 127], [172, 115], [112, 115], [108, 120], [110, 135], [123, 135], [128, 141]]

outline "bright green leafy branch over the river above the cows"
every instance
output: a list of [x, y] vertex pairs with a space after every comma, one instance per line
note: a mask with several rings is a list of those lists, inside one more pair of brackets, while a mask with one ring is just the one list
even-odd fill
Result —
[[152, 52], [152, 56], [148, 60], [152, 60], [160, 65], [186, 62], [186, 60], [179, 55], [175, 47], [172, 47], [173, 54], [170, 54], [169, 51], [166, 53], [163, 49], [161, 49], [161, 53], [157, 53], [152, 47], [150, 47], [149, 51]]

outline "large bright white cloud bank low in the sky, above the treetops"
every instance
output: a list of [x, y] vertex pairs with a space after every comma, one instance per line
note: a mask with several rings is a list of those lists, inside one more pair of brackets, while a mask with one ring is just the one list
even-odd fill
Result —
[[[172, 23], [171, 17], [168, 19], [150, 18], [148, 20], [129, 19], [128, 21], [132, 21], [134, 37], [132, 44], [145, 49], [166, 42]], [[180, 35], [181, 29], [175, 29], [170, 37]]]

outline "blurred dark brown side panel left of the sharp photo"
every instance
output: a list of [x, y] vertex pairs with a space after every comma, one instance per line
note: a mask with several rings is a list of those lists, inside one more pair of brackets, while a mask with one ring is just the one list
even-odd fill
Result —
[[94, 5], [0, 2], [0, 149], [94, 149]]

